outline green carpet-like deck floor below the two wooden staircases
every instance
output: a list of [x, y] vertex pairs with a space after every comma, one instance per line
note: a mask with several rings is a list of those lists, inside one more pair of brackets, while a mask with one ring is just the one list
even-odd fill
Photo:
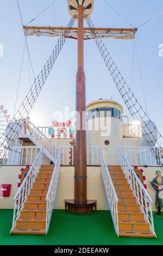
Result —
[[110, 211], [73, 215], [54, 210], [48, 234], [9, 235], [13, 210], [0, 210], [0, 245], [163, 245], [163, 216], [154, 215], [157, 239], [117, 237]]

